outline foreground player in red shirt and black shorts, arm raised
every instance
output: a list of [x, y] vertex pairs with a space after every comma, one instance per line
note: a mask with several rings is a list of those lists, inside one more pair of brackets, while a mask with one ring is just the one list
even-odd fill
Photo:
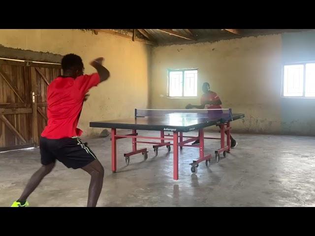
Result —
[[102, 61], [103, 58], [97, 58], [90, 63], [97, 73], [84, 75], [83, 62], [79, 56], [68, 54], [63, 57], [63, 76], [57, 77], [48, 86], [48, 124], [39, 141], [42, 167], [32, 175], [21, 197], [12, 207], [29, 206], [27, 198], [53, 170], [56, 160], [67, 168], [81, 168], [91, 175], [87, 206], [96, 207], [103, 186], [104, 168], [93, 151], [79, 138], [82, 130], [77, 128], [77, 124], [86, 93], [109, 77], [109, 71], [102, 66]]

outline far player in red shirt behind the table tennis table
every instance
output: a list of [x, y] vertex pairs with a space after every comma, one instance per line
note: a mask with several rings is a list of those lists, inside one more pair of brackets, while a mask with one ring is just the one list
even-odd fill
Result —
[[[214, 91], [210, 90], [210, 85], [209, 83], [205, 82], [202, 85], [202, 91], [203, 94], [201, 96], [201, 105], [191, 105], [188, 104], [186, 106], [186, 109], [191, 109], [191, 108], [197, 108], [197, 109], [222, 109], [221, 107], [221, 100], [220, 97], [218, 96], [217, 93]], [[216, 113], [216, 111], [211, 111], [213, 114]], [[221, 112], [221, 111], [218, 111]], [[215, 115], [215, 114], [214, 114]], [[235, 148], [237, 146], [237, 142], [232, 138], [230, 135], [231, 139], [231, 148]], [[192, 144], [199, 144], [199, 140], [196, 140]]]

